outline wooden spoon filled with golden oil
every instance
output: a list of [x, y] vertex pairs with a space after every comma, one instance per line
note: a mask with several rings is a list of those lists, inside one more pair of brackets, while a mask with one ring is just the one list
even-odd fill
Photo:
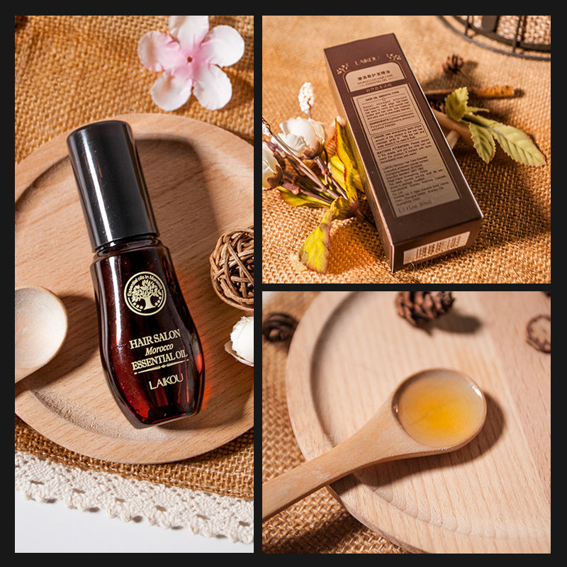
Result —
[[485, 417], [484, 395], [468, 376], [448, 369], [414, 374], [351, 437], [264, 483], [262, 522], [359, 468], [459, 449]]

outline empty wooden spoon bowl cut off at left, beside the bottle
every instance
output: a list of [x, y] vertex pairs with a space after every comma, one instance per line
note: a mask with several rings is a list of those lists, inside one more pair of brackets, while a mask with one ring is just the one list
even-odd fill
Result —
[[60, 298], [42, 287], [16, 289], [15, 382], [45, 366], [67, 335], [67, 310]]

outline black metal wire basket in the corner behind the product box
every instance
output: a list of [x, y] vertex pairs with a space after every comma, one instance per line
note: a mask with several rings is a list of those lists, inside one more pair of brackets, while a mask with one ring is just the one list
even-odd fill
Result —
[[439, 16], [455, 33], [487, 49], [551, 60], [551, 16]]

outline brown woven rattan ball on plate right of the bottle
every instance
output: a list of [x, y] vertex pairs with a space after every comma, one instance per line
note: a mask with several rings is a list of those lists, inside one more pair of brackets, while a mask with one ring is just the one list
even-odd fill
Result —
[[210, 279], [225, 303], [254, 309], [254, 227], [235, 228], [221, 235], [210, 254]]

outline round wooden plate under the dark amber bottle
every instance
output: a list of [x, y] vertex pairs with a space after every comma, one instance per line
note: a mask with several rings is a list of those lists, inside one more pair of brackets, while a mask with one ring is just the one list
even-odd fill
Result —
[[[99, 359], [93, 258], [67, 157], [67, 133], [16, 167], [17, 286], [44, 286], [64, 302], [69, 334], [60, 354], [16, 384], [16, 413], [53, 442], [97, 459], [157, 463], [187, 459], [253, 425], [253, 369], [225, 352], [245, 313], [216, 296], [209, 255], [220, 235], [253, 224], [253, 149], [215, 126], [162, 114], [130, 123], [161, 239], [203, 341], [203, 411], [136, 430], [106, 385]], [[77, 125], [79, 126], [79, 125]]]

